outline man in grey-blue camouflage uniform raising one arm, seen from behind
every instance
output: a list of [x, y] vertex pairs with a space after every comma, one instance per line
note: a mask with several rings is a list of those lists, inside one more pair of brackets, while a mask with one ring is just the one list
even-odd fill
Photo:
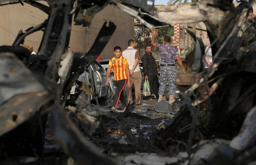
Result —
[[159, 98], [158, 102], [163, 100], [163, 95], [165, 91], [165, 85], [168, 82], [169, 83], [169, 103], [172, 104], [174, 100], [174, 95], [176, 91], [176, 69], [175, 69], [175, 57], [180, 64], [180, 66], [183, 67], [182, 60], [180, 59], [178, 49], [174, 46], [171, 46], [171, 38], [169, 36], [166, 36], [164, 38], [163, 44], [157, 44], [155, 43], [155, 37], [157, 35], [157, 29], [152, 29], [152, 40], [151, 45], [158, 49], [160, 51], [161, 55], [161, 68], [160, 68], [160, 77], [159, 77]]

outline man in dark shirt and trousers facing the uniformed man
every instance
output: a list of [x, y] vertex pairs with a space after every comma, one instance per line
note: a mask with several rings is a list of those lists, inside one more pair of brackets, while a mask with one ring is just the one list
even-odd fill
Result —
[[[153, 90], [154, 94], [156, 95], [156, 99], [158, 99], [158, 88], [159, 88], [159, 82], [158, 82], [158, 71], [156, 69], [156, 60], [152, 56], [152, 47], [151, 45], [145, 46], [146, 53], [142, 56], [142, 66], [143, 66], [143, 72], [145, 79], [148, 79], [150, 92]], [[153, 100], [150, 98], [149, 100]]]

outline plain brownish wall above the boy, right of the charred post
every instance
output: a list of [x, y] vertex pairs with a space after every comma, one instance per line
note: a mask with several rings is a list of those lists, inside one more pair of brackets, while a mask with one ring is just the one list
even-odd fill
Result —
[[134, 39], [134, 17], [121, 11], [118, 7], [108, 5], [96, 14], [90, 27], [72, 25], [69, 45], [73, 51], [87, 52], [100, 31], [104, 20], [110, 20], [117, 26], [105, 49], [100, 54], [103, 59], [114, 56], [113, 48], [120, 46], [122, 50], [128, 47], [128, 40]]

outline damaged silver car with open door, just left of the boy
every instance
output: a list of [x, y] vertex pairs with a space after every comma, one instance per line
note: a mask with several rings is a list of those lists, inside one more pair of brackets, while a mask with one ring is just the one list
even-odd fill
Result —
[[[88, 102], [95, 99], [98, 104], [98, 98], [112, 100], [115, 93], [113, 80], [109, 77], [110, 85], [106, 85], [106, 70], [102, 65], [94, 61], [85, 71], [78, 77], [76, 83], [70, 90], [70, 102], [76, 102], [77, 99], [85, 99]], [[92, 95], [86, 94], [78, 85], [79, 82], [86, 83], [88, 90], [91, 90]]]

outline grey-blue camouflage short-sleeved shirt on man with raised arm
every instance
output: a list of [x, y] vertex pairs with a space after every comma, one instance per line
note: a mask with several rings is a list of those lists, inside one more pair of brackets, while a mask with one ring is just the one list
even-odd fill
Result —
[[178, 49], [170, 44], [156, 44], [156, 49], [161, 54], [161, 64], [174, 64], [175, 55], [179, 55]]

